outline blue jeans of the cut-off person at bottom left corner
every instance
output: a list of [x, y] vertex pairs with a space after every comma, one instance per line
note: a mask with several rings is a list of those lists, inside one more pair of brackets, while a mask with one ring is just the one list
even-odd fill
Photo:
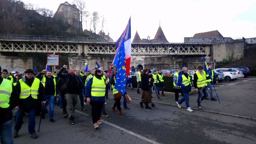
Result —
[[1, 144], [13, 144], [12, 140], [12, 119], [2, 123], [0, 126]]

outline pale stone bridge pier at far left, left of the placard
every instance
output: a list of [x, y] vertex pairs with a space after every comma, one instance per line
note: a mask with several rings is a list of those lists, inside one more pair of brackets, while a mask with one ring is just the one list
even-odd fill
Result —
[[33, 59], [30, 57], [4, 56], [0, 54], [0, 66], [8, 72], [25, 72], [26, 69], [33, 69]]

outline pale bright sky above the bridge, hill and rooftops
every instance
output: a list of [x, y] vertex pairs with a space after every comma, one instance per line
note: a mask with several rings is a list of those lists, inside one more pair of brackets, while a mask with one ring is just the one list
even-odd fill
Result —
[[[65, 0], [21, 0], [53, 10]], [[66, 0], [72, 4], [73, 0]], [[183, 43], [184, 37], [218, 30], [223, 37], [256, 37], [256, 0], [85, 0], [86, 10], [106, 19], [103, 31], [118, 40], [131, 17], [132, 40], [154, 39], [161, 26], [169, 43]], [[101, 30], [98, 23], [96, 33]], [[86, 29], [83, 24], [83, 29]], [[90, 29], [88, 25], [87, 29]]]

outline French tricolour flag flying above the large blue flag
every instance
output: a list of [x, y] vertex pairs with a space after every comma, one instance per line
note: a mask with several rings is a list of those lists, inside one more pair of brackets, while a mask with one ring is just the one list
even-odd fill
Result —
[[[122, 38], [123, 36], [123, 38]], [[116, 47], [120, 45], [121, 41], [124, 41], [124, 50], [125, 50], [125, 60], [126, 60], [126, 75], [130, 75], [130, 64], [131, 64], [131, 53], [132, 53], [132, 39], [131, 39], [131, 18], [128, 21], [128, 24], [126, 25], [126, 28], [119, 37], [119, 39], [116, 41]], [[116, 50], [118, 51], [118, 49]]]

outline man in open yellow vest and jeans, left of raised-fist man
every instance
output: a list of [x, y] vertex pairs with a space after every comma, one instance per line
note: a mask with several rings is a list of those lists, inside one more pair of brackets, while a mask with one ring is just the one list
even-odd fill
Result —
[[[42, 76], [42, 74], [44, 74]], [[41, 83], [44, 85], [44, 94], [45, 94], [45, 98], [47, 99], [45, 105], [43, 106], [43, 111], [42, 111], [42, 119], [44, 119], [44, 114], [45, 114], [45, 110], [47, 105], [49, 104], [49, 117], [50, 117], [50, 121], [52, 123], [55, 122], [55, 120], [53, 119], [53, 113], [54, 113], [54, 99], [55, 96], [59, 96], [58, 94], [56, 95], [56, 92], [58, 90], [56, 90], [56, 80], [55, 78], [52, 76], [52, 72], [51, 71], [46, 71], [46, 70], [42, 70], [42, 72], [40, 72], [36, 78], [38, 78]]]

